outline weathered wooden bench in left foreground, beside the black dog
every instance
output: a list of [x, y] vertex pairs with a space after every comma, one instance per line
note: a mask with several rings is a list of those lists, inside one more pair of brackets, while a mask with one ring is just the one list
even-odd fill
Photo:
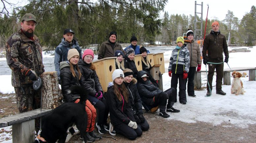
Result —
[[52, 109], [36, 109], [0, 118], [0, 128], [13, 126], [13, 143], [35, 142], [35, 118], [44, 116]]

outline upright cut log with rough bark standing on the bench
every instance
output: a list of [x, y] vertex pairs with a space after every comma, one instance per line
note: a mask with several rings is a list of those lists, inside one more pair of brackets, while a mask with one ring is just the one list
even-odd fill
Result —
[[62, 95], [57, 72], [44, 72], [42, 79], [42, 109], [55, 109], [61, 105]]

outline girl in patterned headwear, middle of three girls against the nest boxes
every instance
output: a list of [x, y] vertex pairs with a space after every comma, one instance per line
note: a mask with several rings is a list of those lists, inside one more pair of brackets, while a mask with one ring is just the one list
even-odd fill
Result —
[[138, 70], [137, 70], [136, 64], [134, 62], [134, 56], [135, 56], [134, 53], [135, 52], [134, 52], [133, 48], [128, 48], [126, 50], [124, 62], [125, 62], [125, 68], [131, 69], [133, 71], [133, 77], [137, 78]]

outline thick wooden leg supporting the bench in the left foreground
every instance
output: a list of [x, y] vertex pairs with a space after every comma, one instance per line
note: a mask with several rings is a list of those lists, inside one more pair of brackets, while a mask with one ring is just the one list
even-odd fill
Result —
[[13, 143], [35, 142], [35, 119], [13, 125]]

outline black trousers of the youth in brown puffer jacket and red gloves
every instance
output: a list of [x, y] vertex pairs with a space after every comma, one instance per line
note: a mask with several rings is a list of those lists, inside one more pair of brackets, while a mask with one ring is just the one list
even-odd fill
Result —
[[[187, 84], [187, 94], [188, 95], [195, 95], [195, 91], [194, 91], [195, 72], [196, 72], [196, 67], [189, 67], [189, 72], [187, 73], [187, 79], [185, 79], [185, 85]], [[185, 88], [186, 88], [186, 86], [185, 86]]]

